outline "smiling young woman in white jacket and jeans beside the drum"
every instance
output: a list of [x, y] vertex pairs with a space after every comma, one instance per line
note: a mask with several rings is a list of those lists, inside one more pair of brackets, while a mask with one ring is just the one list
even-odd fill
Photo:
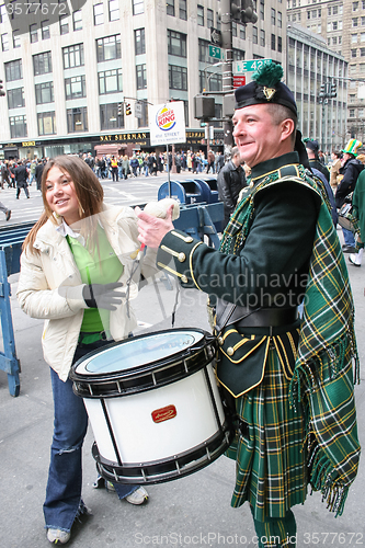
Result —
[[[44, 357], [50, 366], [54, 437], [44, 516], [47, 538], [66, 544], [81, 499], [81, 447], [88, 416], [68, 375], [77, 359], [128, 336], [136, 320], [125, 295], [136, 296], [140, 271], [156, 273], [156, 251], [141, 269], [137, 218], [129, 207], [109, 207], [103, 187], [80, 158], [60, 156], [42, 176], [44, 213], [23, 247], [18, 298], [33, 318], [44, 319]], [[134, 271], [136, 271], [135, 274]], [[138, 486], [114, 484], [119, 499], [141, 504]]]

